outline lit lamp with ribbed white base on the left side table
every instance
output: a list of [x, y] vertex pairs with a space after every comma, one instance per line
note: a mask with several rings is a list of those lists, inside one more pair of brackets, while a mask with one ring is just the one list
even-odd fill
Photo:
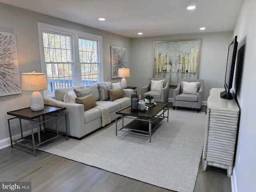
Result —
[[22, 73], [21, 89], [24, 91], [34, 91], [30, 97], [30, 108], [32, 111], [44, 109], [44, 101], [40, 90], [47, 89], [44, 73]]

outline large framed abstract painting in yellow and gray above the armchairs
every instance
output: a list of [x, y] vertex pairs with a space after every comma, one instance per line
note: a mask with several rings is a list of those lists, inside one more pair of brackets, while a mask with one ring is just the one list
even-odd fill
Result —
[[154, 42], [154, 78], [198, 79], [201, 39]]

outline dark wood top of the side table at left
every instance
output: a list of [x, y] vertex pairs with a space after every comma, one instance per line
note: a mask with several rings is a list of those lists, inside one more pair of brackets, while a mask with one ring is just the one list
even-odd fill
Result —
[[40, 111], [32, 111], [30, 107], [27, 107], [23, 109], [14, 110], [14, 111], [9, 111], [7, 112], [7, 114], [16, 116], [22, 119], [32, 120], [35, 118], [39, 118], [40, 116], [45, 116], [55, 112], [60, 112], [62, 110], [66, 110], [66, 107], [55, 107], [55, 106], [44, 105], [44, 109]]

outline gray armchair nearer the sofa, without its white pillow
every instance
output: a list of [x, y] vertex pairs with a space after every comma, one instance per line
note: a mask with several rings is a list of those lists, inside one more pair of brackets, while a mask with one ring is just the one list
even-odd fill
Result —
[[[160, 92], [158, 91], [151, 91], [151, 80], [164, 80], [163, 88]], [[141, 88], [141, 99], [144, 100], [145, 96], [150, 94], [154, 97], [155, 102], [168, 102], [169, 98], [169, 85], [170, 79], [169, 78], [148, 78], [148, 84], [145, 87]]]

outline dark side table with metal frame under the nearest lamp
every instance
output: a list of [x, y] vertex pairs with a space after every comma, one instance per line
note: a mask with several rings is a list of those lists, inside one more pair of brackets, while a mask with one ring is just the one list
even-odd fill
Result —
[[[36, 156], [36, 146], [43, 144], [49, 140], [52, 140], [58, 136], [66, 135], [66, 140], [68, 140], [68, 127], [67, 127], [67, 116], [66, 114], [57, 115], [62, 110], [66, 110], [65, 107], [55, 107], [55, 106], [48, 106], [44, 105], [44, 109], [40, 111], [32, 111], [30, 107], [23, 108], [19, 110], [14, 110], [7, 112], [8, 115], [15, 116], [14, 118], [8, 119], [8, 127], [9, 127], [9, 133], [10, 133], [10, 141], [11, 141], [11, 147], [13, 148], [13, 142], [28, 148], [32, 148], [34, 150], [34, 156]], [[48, 118], [46, 119], [46, 116]], [[58, 124], [57, 119], [65, 117], [65, 123], [66, 123], [66, 133], [59, 132], [58, 131]], [[17, 140], [12, 140], [12, 133], [10, 128], [10, 120], [14, 120], [18, 118], [20, 121], [20, 134], [21, 138]], [[22, 124], [21, 120], [28, 120], [31, 122], [34, 122], [34, 124], [30, 125], [31, 128], [31, 135], [28, 135], [26, 137], [23, 136], [22, 132]], [[50, 120], [55, 120], [56, 122], [56, 130], [46, 128], [46, 122]], [[44, 126], [44, 130], [42, 130], [42, 126]], [[34, 128], [37, 128], [37, 132], [34, 133]], [[26, 140], [28, 141], [28, 144], [22, 144], [19, 141]], [[31, 145], [32, 143], [32, 145]]]

